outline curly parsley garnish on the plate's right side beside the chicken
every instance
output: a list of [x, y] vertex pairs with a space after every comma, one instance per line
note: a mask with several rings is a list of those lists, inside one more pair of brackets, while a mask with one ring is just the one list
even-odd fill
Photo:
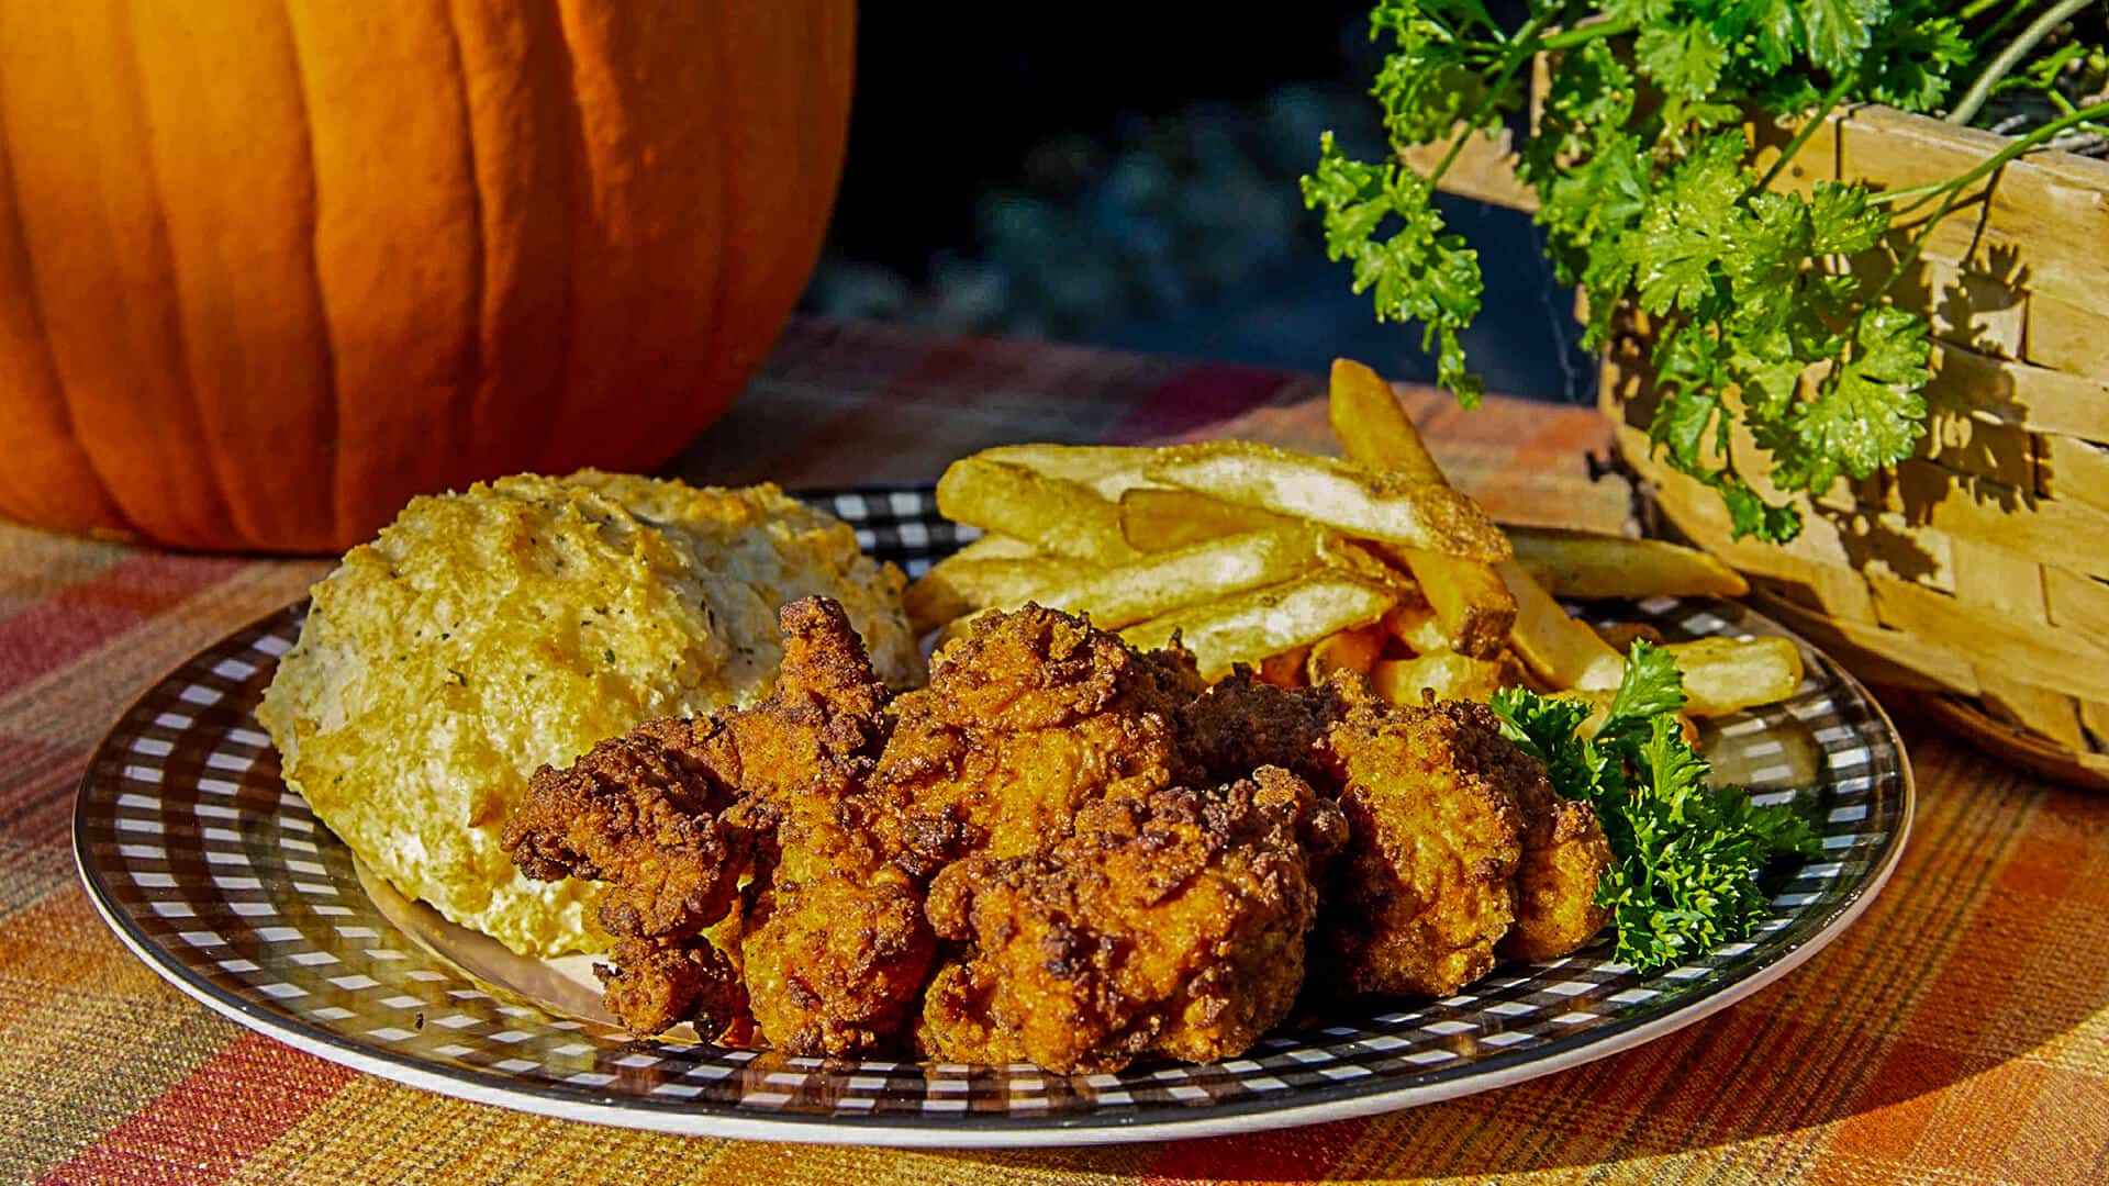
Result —
[[1502, 732], [1546, 764], [1552, 787], [1597, 808], [1615, 857], [1597, 903], [1611, 912], [1613, 958], [1643, 973], [1750, 935], [1772, 912], [1763, 867], [1820, 850], [1788, 804], [1755, 806], [1742, 787], [1708, 783], [1713, 768], [1677, 722], [1683, 703], [1675, 658], [1645, 642], [1594, 737], [1582, 737], [1586, 701], [1493, 696]]

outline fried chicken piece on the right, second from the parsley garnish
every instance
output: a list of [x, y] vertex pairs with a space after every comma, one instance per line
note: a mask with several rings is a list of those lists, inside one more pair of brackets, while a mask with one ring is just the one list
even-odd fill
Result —
[[1449, 996], [1516, 918], [1518, 783], [1544, 770], [1472, 703], [1360, 705], [1327, 732], [1352, 840], [1327, 912], [1350, 992]]

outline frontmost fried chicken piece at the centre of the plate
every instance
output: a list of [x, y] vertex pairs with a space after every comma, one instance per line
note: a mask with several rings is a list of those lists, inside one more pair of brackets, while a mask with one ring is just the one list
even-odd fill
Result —
[[1261, 768], [1099, 800], [1044, 853], [947, 867], [930, 918], [968, 948], [924, 998], [922, 1045], [1059, 1074], [1242, 1053], [1297, 998], [1343, 831], [1310, 785]]

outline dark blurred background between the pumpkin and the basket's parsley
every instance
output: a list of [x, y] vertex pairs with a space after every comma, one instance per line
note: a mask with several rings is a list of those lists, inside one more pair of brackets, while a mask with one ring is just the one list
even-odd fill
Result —
[[[1502, 4], [1493, 4], [1495, 11]], [[850, 152], [804, 308], [1322, 371], [1432, 378], [1324, 257], [1297, 177], [1381, 152], [1367, 2], [869, 2]], [[1529, 217], [1445, 198], [1481, 251], [1491, 390], [1592, 399]]]

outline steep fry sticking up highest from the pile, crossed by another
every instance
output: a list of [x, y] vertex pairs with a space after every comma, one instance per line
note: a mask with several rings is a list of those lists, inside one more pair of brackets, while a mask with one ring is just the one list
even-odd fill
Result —
[[[1392, 386], [1377, 371], [1362, 363], [1335, 359], [1327, 412], [1348, 460], [1375, 471], [1445, 481], [1428, 445], [1421, 443], [1421, 435], [1413, 431], [1413, 422], [1398, 407]], [[1398, 547], [1394, 551], [1449, 631], [1453, 650], [1476, 658], [1502, 652], [1508, 629], [1516, 620], [1516, 601], [1489, 563], [1424, 549]]]

